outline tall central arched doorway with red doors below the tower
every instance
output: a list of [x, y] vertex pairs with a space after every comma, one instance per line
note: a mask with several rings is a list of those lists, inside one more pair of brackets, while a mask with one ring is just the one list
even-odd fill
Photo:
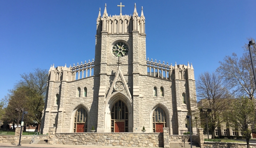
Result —
[[111, 110], [111, 132], [128, 132], [128, 109], [121, 100]]

